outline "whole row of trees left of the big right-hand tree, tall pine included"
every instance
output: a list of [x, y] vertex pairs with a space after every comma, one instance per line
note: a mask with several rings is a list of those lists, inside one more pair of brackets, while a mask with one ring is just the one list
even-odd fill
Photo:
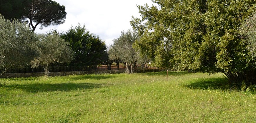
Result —
[[[65, 6], [51, 0], [10, 0], [1, 1], [0, 17], [0, 74], [11, 68], [42, 66], [45, 75], [49, 67], [91, 66], [106, 64], [111, 70], [113, 62], [127, 66], [132, 73], [141, 63], [139, 52], [132, 44], [137, 40], [135, 31], [122, 32], [114, 40], [114, 45], [107, 47], [104, 40], [92, 34], [85, 25], [78, 24], [64, 33], [51, 30], [47, 34], [34, 33], [35, 28], [57, 25], [65, 22]], [[126, 46], [126, 47], [123, 47]], [[143, 68], [142, 66], [142, 68]]]

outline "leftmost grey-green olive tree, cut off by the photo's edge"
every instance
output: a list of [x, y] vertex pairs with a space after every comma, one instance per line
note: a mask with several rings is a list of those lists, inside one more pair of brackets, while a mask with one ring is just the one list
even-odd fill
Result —
[[28, 65], [36, 55], [36, 35], [27, 25], [3, 16], [0, 27], [0, 74], [11, 67]]

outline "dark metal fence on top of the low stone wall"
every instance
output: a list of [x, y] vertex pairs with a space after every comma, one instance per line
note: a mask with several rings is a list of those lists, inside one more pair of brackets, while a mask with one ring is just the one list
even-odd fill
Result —
[[[111, 70], [123, 70], [125, 66], [120, 65], [119, 68], [116, 65], [111, 66]], [[104, 71], [107, 70], [107, 65], [92, 65], [92, 66], [50, 66], [49, 72], [70, 72], [70, 71]], [[12, 68], [6, 71], [6, 73], [38, 73], [44, 72], [42, 66], [37, 68], [23, 67]]]

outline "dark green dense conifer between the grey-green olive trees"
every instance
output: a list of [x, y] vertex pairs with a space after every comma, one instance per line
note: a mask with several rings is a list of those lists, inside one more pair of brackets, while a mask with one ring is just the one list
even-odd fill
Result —
[[98, 65], [101, 56], [106, 51], [105, 42], [99, 36], [90, 32], [80, 24], [75, 28], [71, 27], [61, 37], [69, 42], [69, 46], [74, 51], [74, 65]]

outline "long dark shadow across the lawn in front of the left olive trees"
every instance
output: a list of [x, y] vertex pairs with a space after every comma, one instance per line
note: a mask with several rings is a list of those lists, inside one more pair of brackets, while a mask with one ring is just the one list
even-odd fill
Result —
[[92, 88], [101, 88], [104, 84], [97, 83], [33, 83], [33, 84], [24, 84], [24, 85], [12, 85], [6, 86], [8, 89], [21, 89], [23, 91], [36, 93], [36, 92], [51, 92], [51, 91], [70, 91], [77, 89], [92, 89]]

